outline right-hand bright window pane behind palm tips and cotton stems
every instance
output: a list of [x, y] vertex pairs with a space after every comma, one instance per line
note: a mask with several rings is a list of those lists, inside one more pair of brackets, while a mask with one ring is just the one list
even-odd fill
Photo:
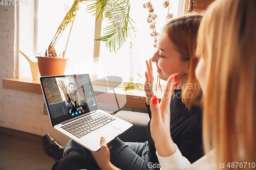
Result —
[[[136, 60], [139, 64], [140, 75], [143, 76], [141, 83], [145, 82], [144, 72], [146, 71], [146, 60], [150, 59], [153, 54], [156, 52], [156, 48], [153, 47], [154, 39], [150, 36], [152, 30], [150, 29], [150, 23], [147, 22], [148, 10], [143, 8], [143, 4], [147, 1], [138, 1], [131, 0], [131, 11], [130, 17], [134, 20], [136, 25], [136, 37], [134, 38], [134, 44], [136, 49]], [[155, 12], [158, 17], [156, 19], [156, 30], [161, 32], [161, 28], [166, 23], [167, 9], [165, 9], [162, 4], [164, 1], [151, 1]], [[182, 1], [183, 2], [183, 1]], [[178, 15], [178, 3], [179, 1], [170, 0], [169, 13], [174, 13], [174, 17]], [[102, 25], [102, 27], [104, 27]], [[106, 50], [105, 44], [101, 42], [100, 45], [100, 60], [104, 63], [103, 68], [107, 75], [115, 75], [122, 77], [124, 82], [129, 82], [129, 73], [130, 73], [130, 43], [127, 41], [117, 52], [116, 54]], [[154, 64], [153, 64], [154, 65]], [[154, 68], [153, 68], [154, 69]], [[156, 69], [155, 69], [156, 70]], [[155, 72], [156, 74], [156, 72]], [[156, 77], [156, 75], [154, 75]]]

